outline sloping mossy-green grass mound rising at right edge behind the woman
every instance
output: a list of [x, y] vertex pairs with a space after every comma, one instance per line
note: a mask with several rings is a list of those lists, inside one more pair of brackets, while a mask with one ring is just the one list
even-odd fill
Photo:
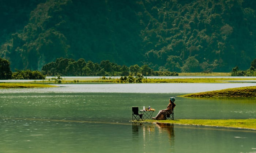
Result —
[[180, 97], [256, 97], [256, 86], [206, 91], [181, 95]]

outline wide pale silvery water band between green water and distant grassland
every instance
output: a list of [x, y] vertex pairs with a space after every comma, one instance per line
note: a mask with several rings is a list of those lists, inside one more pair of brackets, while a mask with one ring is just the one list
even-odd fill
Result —
[[255, 86], [256, 83], [87, 83], [59, 88], [1, 89], [1, 93], [170, 93], [174, 95]]

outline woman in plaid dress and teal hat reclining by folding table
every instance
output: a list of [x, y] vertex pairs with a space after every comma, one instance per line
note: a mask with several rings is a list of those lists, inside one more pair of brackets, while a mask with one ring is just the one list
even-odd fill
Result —
[[166, 119], [166, 114], [172, 114], [173, 113], [173, 109], [174, 107], [176, 106], [174, 101], [176, 99], [174, 97], [170, 97], [170, 100], [169, 100], [169, 104], [167, 106], [167, 109], [163, 109], [163, 110], [160, 110], [159, 113], [157, 114], [156, 117], [152, 117], [153, 119], [156, 119], [156, 120], [164, 120]]

